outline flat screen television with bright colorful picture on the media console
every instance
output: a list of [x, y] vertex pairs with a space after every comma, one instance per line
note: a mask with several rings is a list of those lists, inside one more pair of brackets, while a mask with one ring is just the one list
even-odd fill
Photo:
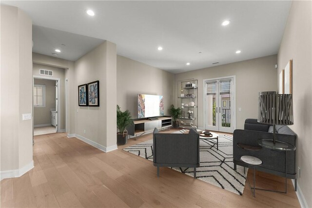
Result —
[[137, 94], [137, 118], [164, 115], [164, 98], [162, 95]]

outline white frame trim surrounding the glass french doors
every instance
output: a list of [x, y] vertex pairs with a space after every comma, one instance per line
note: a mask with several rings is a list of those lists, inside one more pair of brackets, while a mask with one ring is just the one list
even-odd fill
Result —
[[[222, 76], [222, 77], [215, 77], [215, 78], [209, 78], [209, 79], [203, 79], [203, 106], [205, 106], [205, 102], [206, 102], [206, 81], [211, 81], [211, 80], [216, 80], [216, 79], [229, 79], [229, 78], [233, 78], [233, 91], [231, 91], [231, 94], [233, 95], [233, 101], [232, 101], [232, 107], [231, 107], [231, 112], [233, 112], [233, 118], [231, 117], [231, 120], [233, 119], [233, 127], [231, 127], [232, 133], [234, 132], [234, 130], [236, 129], [236, 76]], [[232, 89], [232, 88], [231, 88]], [[203, 128], [206, 128], [206, 108], [203, 107]]]

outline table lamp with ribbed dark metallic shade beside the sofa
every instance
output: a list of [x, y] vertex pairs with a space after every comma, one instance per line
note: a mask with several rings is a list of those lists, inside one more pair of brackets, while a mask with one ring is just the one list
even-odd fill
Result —
[[276, 92], [259, 93], [258, 122], [273, 125], [273, 146], [275, 125], [293, 125], [292, 94], [276, 94]]

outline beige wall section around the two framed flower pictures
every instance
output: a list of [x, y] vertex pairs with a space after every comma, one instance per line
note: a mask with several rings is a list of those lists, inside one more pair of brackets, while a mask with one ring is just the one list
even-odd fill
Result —
[[[116, 44], [105, 41], [75, 61], [75, 126], [78, 135], [108, 149], [117, 148]], [[78, 106], [78, 85], [99, 80], [99, 107]], [[85, 132], [84, 132], [85, 130]], [[109, 151], [109, 150], [108, 150]]]

